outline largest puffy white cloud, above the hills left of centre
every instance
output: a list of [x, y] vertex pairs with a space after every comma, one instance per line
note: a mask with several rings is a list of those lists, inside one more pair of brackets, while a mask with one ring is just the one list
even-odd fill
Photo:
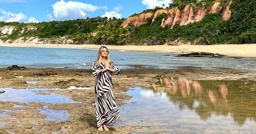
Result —
[[52, 5], [52, 14], [47, 14], [49, 20], [68, 20], [85, 18], [86, 12], [94, 12], [99, 9], [108, 9], [107, 6], [95, 6], [82, 2], [60, 0]]

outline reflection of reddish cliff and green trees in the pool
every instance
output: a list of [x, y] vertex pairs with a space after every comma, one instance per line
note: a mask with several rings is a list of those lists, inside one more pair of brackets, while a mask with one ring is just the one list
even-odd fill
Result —
[[153, 91], [165, 92], [180, 110], [194, 110], [201, 119], [228, 114], [242, 125], [247, 118], [256, 120], [256, 82], [252, 80], [190, 80], [158, 78]]

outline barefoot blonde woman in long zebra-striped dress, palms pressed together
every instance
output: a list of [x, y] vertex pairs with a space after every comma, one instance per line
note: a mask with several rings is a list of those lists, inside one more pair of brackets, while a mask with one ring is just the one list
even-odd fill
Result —
[[113, 61], [109, 60], [109, 51], [101, 46], [98, 59], [93, 62], [92, 74], [95, 79], [96, 117], [99, 131], [109, 130], [106, 125], [113, 126], [114, 120], [120, 117], [116, 101], [112, 92], [111, 72], [119, 75], [120, 70]]

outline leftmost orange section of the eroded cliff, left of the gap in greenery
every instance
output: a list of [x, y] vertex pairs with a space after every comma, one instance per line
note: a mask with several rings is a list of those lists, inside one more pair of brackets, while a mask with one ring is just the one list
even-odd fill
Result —
[[133, 26], [140, 26], [141, 24], [147, 23], [147, 18], [150, 18], [151, 15], [153, 15], [153, 13], [148, 12], [148, 13], [142, 13], [139, 16], [128, 17], [124, 20], [124, 22], [122, 23], [122, 26], [126, 27], [129, 24]]

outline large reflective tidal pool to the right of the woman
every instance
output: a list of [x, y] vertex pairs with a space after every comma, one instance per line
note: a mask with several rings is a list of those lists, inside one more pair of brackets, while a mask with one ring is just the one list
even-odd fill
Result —
[[[158, 78], [129, 90], [115, 127], [154, 126], [133, 133], [256, 133], [256, 79]], [[136, 113], [136, 114], [134, 114]]]

